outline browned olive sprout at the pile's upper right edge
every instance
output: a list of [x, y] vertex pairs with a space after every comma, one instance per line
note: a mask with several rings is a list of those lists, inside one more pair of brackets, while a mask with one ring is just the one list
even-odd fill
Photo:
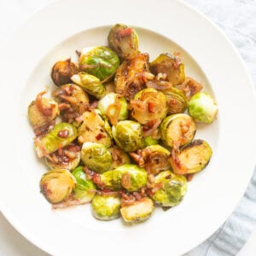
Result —
[[150, 63], [150, 70], [157, 75], [158, 73], [166, 73], [167, 80], [172, 85], [182, 84], [185, 79], [184, 64], [179, 58], [166, 54], [160, 54], [154, 61]]

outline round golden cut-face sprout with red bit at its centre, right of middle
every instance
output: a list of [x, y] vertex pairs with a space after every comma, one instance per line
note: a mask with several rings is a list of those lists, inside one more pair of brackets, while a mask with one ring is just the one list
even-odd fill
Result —
[[[131, 116], [140, 124], [145, 125], [151, 120], [164, 119], [167, 113], [166, 96], [153, 88], [140, 90], [131, 100]], [[137, 107], [139, 102], [139, 107]]]

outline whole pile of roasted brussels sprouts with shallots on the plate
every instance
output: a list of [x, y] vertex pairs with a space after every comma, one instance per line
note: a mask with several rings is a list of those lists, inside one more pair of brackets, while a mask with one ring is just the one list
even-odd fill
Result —
[[90, 203], [99, 220], [137, 224], [183, 201], [211, 160], [196, 129], [216, 119], [213, 96], [187, 76], [181, 53], [150, 61], [138, 38], [135, 28], [114, 25], [108, 45], [55, 62], [53, 90], [28, 104], [35, 151], [47, 167], [40, 191], [53, 209]]

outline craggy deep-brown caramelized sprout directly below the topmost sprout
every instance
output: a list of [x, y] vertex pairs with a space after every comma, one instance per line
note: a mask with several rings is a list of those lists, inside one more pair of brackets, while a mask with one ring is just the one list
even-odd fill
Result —
[[115, 91], [124, 95], [127, 100], [133, 99], [139, 90], [145, 88], [143, 76], [148, 72], [148, 54], [138, 54], [125, 60], [114, 77]]

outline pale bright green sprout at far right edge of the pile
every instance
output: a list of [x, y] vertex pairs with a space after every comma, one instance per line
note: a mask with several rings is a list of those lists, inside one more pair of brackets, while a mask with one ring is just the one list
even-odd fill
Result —
[[188, 112], [196, 121], [212, 123], [218, 113], [218, 106], [212, 96], [200, 91], [190, 98]]

